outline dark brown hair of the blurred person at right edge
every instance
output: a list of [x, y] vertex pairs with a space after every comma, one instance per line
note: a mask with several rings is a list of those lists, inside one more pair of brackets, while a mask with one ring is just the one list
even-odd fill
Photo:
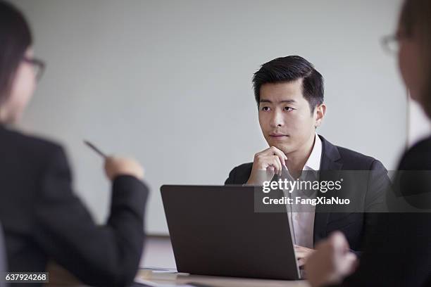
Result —
[[431, 1], [405, 0], [399, 18], [399, 27], [404, 37], [414, 37], [420, 41], [424, 59], [426, 78], [425, 94], [420, 96], [420, 103], [431, 119]]

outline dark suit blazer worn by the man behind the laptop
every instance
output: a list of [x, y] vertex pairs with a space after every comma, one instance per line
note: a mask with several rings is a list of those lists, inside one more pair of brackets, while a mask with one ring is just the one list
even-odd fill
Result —
[[[378, 209], [384, 203], [385, 189], [389, 185], [387, 170], [382, 162], [367, 155], [356, 153], [346, 148], [334, 146], [323, 136], [322, 156], [320, 160], [320, 181], [328, 180], [329, 175], [324, 171], [331, 171], [334, 176], [339, 170], [373, 171], [365, 181], [356, 180], [357, 184], [351, 186], [350, 198], [361, 202], [362, 209], [369, 211]], [[253, 162], [235, 167], [226, 179], [225, 184], [245, 184], [251, 174]], [[335, 192], [327, 192], [325, 196], [335, 196]], [[352, 250], [361, 251], [366, 233], [375, 224], [375, 214], [371, 212], [325, 212], [327, 207], [316, 206], [314, 218], [314, 244], [326, 238], [332, 231], [339, 230], [344, 233]]]

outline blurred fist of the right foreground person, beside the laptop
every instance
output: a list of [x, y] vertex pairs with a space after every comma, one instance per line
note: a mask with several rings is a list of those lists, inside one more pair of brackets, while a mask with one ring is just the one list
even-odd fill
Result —
[[355, 271], [357, 264], [356, 255], [350, 252], [344, 234], [335, 231], [318, 243], [316, 251], [308, 257], [306, 277], [312, 287], [340, 283]]

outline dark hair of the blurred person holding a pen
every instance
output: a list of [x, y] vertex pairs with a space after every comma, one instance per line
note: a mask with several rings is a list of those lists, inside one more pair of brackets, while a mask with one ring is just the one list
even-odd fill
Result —
[[6, 101], [16, 70], [31, 45], [32, 33], [23, 13], [0, 0], [0, 106]]

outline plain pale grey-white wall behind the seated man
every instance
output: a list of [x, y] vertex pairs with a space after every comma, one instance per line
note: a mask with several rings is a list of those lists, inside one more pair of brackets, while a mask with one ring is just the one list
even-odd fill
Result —
[[394, 169], [406, 143], [405, 92], [380, 46], [400, 0], [15, 3], [48, 63], [23, 127], [65, 144], [99, 222], [108, 183], [82, 139], [143, 162], [146, 229], [165, 234], [161, 184], [223, 184], [266, 148], [251, 76], [279, 56], [304, 56], [325, 77], [320, 134], [334, 144]]

